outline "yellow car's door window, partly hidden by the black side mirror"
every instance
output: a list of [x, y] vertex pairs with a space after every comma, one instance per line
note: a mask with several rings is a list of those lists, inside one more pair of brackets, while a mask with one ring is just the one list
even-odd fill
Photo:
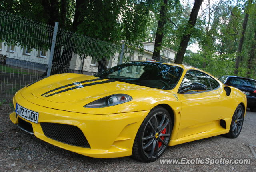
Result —
[[[197, 70], [190, 70], [187, 72], [182, 82], [182, 87], [188, 86], [194, 82], [204, 84], [207, 86], [206, 90], [211, 90], [211, 85], [209, 83], [209, 80], [206, 74], [199, 72]], [[195, 91], [188, 91], [188, 92], [195, 92]]]

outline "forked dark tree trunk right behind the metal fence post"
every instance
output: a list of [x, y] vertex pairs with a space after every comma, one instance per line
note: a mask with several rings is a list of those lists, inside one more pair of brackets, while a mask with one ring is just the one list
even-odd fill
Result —
[[[71, 26], [71, 30], [73, 32], [77, 31], [78, 25], [83, 21], [83, 10], [86, 10], [88, 2], [89, 0], [76, 0], [74, 20]], [[58, 0], [42, 0], [42, 6], [46, 11], [46, 15], [48, 15], [47, 23], [49, 25], [54, 26], [55, 22], [60, 22], [60, 27], [65, 26], [66, 8], [68, 6], [67, 3], [67, 0], [60, 0], [60, 6], [58, 6]], [[74, 52], [74, 45], [72, 44], [72, 38], [70, 35], [68, 35], [66, 40], [63, 41], [62, 39], [64, 38], [62, 35], [57, 36], [59, 37], [56, 39], [51, 75], [69, 72], [70, 61]], [[62, 42], [64, 44], [62, 44]], [[44, 75], [46, 76], [46, 74], [47, 70]]]

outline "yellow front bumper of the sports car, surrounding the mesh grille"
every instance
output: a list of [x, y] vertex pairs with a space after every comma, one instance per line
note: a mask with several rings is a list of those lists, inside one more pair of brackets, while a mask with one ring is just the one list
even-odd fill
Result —
[[[138, 128], [149, 113], [149, 110], [102, 115], [68, 112], [28, 102], [20, 92], [17, 92], [13, 98], [14, 107], [16, 107], [16, 102], [39, 113], [37, 124], [22, 118], [32, 124], [33, 133], [37, 138], [60, 148], [94, 158], [130, 156]], [[14, 124], [18, 124], [18, 118], [21, 117], [17, 117], [15, 112], [10, 114], [10, 120]], [[88, 140], [90, 148], [73, 146], [46, 137], [41, 122], [68, 124], [80, 128]]]

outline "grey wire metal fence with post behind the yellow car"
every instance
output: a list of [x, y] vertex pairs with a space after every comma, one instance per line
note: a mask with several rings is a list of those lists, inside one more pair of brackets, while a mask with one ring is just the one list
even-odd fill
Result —
[[152, 59], [152, 53], [129, 47], [0, 11], [0, 103], [11, 102], [20, 88], [45, 76], [92, 75], [125, 61]]

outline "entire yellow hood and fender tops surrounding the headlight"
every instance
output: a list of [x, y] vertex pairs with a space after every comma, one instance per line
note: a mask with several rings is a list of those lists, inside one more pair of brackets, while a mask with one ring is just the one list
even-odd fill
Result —
[[[84, 114], [113, 114], [150, 110], [155, 104], [177, 101], [172, 95], [174, 93], [170, 90], [160, 90], [82, 74], [52, 75], [24, 87], [19, 92], [24, 99], [33, 104]], [[112, 94], [128, 94], [132, 96], [132, 101], [104, 108], [84, 108], [84, 105]], [[16, 96], [18, 103], [19, 99]], [[29, 107], [26, 108], [29, 109]]]

